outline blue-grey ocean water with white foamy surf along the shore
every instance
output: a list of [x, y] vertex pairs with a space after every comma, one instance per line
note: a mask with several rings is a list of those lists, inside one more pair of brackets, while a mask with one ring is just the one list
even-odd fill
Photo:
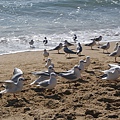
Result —
[[0, 0], [0, 54], [50, 49], [73, 34], [120, 41], [120, 0]]

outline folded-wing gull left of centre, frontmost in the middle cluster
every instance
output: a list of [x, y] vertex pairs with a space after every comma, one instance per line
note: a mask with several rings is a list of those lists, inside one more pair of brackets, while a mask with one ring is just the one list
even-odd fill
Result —
[[57, 75], [54, 72], [52, 72], [50, 74], [50, 79], [39, 82], [37, 86], [41, 86], [46, 89], [53, 89], [57, 84], [56, 77]]

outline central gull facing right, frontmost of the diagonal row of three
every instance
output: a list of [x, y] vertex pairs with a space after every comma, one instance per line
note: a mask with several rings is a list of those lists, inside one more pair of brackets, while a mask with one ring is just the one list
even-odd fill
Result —
[[59, 76], [67, 79], [68, 81], [76, 81], [79, 78], [81, 78], [80, 68], [78, 67], [78, 65], [75, 65], [73, 71], [66, 73], [59, 73]]

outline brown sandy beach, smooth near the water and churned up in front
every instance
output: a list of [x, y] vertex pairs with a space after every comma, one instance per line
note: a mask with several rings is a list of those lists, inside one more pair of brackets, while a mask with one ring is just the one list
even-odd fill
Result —
[[[113, 52], [115, 42], [110, 43], [109, 53]], [[70, 55], [66, 58], [63, 50], [49, 51], [54, 69], [62, 72], [71, 69], [79, 60], [90, 56], [91, 64], [81, 73], [82, 79], [76, 84], [61, 77], [57, 77], [57, 85], [48, 91], [35, 85], [30, 86], [36, 77], [30, 74], [33, 71], [44, 71], [45, 61], [43, 52], [21, 52], [0, 56], [0, 80], [9, 80], [13, 69], [20, 68], [24, 72], [23, 90], [16, 94], [3, 94], [0, 98], [0, 120], [120, 120], [120, 78], [116, 81], [104, 81], [98, 76], [100, 70], [108, 69], [108, 64], [114, 62], [114, 57], [103, 53], [98, 44], [93, 50], [84, 46], [81, 56]], [[72, 47], [74, 50], [75, 47]], [[106, 52], [106, 51], [105, 51]], [[3, 90], [0, 84], [0, 90]]]

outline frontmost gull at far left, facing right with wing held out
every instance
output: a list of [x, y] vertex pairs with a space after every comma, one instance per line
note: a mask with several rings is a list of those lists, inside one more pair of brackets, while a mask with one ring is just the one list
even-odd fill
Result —
[[0, 92], [0, 94], [2, 94], [2, 93], [13, 93], [14, 97], [16, 97], [15, 93], [22, 91], [24, 80], [25, 79], [23, 77], [19, 77], [18, 80], [17, 80], [17, 83], [12, 81], [12, 80], [6, 80], [4, 82], [0, 81], [0, 83], [5, 84], [5, 86], [4, 86], [5, 89], [2, 90]]

